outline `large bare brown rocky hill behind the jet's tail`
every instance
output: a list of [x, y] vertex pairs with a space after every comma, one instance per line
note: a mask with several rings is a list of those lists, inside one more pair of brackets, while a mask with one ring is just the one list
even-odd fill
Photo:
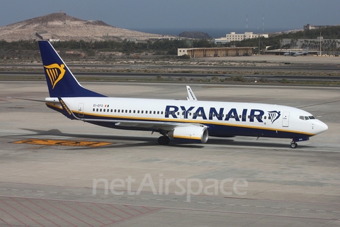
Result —
[[84, 21], [62, 11], [0, 27], [0, 40], [145, 40], [162, 35], [110, 26], [103, 21]]

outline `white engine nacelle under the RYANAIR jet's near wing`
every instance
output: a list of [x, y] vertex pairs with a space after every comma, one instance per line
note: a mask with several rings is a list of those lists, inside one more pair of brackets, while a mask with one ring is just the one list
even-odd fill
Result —
[[179, 126], [174, 131], [169, 131], [168, 136], [182, 143], [206, 143], [208, 129], [200, 126]]

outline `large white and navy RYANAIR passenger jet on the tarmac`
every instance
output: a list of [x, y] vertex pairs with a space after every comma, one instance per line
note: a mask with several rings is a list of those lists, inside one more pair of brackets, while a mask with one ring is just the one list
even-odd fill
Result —
[[156, 132], [161, 135], [160, 145], [168, 145], [170, 138], [180, 143], [206, 143], [209, 136], [243, 135], [290, 138], [290, 148], [297, 148], [297, 142], [328, 129], [312, 114], [290, 106], [198, 101], [189, 86], [187, 100], [108, 97], [82, 87], [49, 41], [38, 43], [50, 93], [40, 101], [72, 120]]

